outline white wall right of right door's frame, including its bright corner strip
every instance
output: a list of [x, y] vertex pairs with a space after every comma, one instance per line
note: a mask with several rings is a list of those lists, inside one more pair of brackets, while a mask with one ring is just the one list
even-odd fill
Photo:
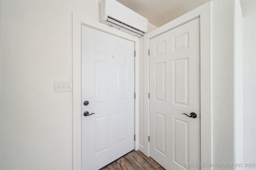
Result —
[[[242, 13], [212, 1], [212, 162], [242, 163]], [[226, 168], [223, 168], [226, 169]], [[230, 169], [234, 169], [230, 168]]]

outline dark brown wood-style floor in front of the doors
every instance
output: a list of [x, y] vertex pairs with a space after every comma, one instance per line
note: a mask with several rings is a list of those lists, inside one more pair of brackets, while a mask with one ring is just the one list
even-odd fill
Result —
[[140, 150], [133, 150], [102, 170], [165, 170]]

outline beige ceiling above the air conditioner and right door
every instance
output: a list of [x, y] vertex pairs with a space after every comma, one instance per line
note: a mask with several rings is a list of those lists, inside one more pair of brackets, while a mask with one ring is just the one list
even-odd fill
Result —
[[160, 27], [210, 0], [116, 0]]

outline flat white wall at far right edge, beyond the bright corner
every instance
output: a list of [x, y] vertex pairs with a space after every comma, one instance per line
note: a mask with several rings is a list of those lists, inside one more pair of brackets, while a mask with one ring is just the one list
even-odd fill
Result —
[[240, 0], [243, 30], [244, 163], [256, 162], [256, 1]]

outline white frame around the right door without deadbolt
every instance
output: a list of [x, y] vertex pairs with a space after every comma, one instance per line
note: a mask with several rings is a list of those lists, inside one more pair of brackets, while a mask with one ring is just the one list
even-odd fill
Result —
[[[144, 139], [148, 139], [149, 136], [149, 40], [198, 17], [200, 18], [200, 162], [212, 163], [211, 2], [144, 36]], [[144, 147], [140, 144], [139, 149], [150, 156], [148, 140], [144, 141]]]

